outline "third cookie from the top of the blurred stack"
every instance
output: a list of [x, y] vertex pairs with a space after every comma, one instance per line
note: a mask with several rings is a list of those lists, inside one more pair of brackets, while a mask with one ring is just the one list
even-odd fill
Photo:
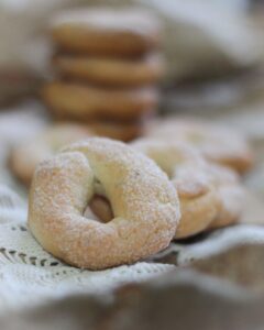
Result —
[[152, 112], [158, 101], [155, 88], [103, 89], [54, 81], [42, 91], [43, 100], [58, 118], [81, 120], [136, 120]]

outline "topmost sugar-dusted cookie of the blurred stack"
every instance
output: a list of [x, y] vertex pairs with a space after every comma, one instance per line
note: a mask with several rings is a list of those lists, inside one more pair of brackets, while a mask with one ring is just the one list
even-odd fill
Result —
[[103, 56], [140, 56], [160, 44], [161, 25], [136, 9], [81, 9], [61, 13], [52, 24], [55, 44], [65, 51]]

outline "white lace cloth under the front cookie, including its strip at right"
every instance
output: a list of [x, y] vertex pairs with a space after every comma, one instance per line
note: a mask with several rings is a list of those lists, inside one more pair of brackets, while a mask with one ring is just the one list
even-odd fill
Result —
[[[0, 185], [0, 314], [78, 293], [108, 293], [106, 297], [109, 297], [111, 289], [119, 285], [153, 278], [175, 265], [191, 265], [194, 261], [210, 258], [238, 245], [264, 246], [264, 228], [243, 224], [216, 231], [188, 244], [172, 243], [150, 262], [90, 272], [70, 267], [45, 252], [28, 231], [25, 220], [26, 204]], [[160, 263], [166, 256], [175, 265]]]

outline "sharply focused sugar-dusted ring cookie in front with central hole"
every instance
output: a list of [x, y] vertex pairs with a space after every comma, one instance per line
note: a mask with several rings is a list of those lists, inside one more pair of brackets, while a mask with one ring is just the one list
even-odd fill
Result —
[[[108, 223], [86, 219], [97, 183], [110, 200]], [[128, 145], [90, 138], [37, 166], [29, 227], [45, 250], [84, 268], [132, 263], [165, 249], [179, 219], [176, 190], [165, 173]]]

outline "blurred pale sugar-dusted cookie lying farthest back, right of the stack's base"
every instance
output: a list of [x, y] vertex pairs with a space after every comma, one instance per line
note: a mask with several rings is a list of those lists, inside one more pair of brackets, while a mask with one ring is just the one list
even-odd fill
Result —
[[153, 124], [148, 132], [153, 139], [186, 141], [215, 163], [244, 173], [253, 164], [246, 140], [234, 130], [209, 121], [170, 118]]

